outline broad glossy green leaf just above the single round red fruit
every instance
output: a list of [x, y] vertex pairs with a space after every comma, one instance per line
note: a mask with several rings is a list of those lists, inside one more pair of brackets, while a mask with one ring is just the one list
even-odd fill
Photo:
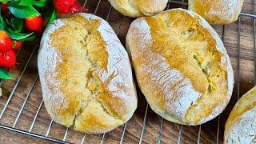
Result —
[[35, 10], [33, 6], [19, 6], [17, 2], [9, 2], [8, 8], [11, 14], [14, 14], [17, 18], [29, 18], [40, 15], [38, 10]]

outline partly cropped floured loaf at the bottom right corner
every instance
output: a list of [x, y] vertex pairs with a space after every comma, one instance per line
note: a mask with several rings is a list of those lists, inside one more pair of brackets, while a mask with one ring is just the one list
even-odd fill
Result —
[[235, 104], [226, 121], [224, 143], [256, 143], [256, 86]]

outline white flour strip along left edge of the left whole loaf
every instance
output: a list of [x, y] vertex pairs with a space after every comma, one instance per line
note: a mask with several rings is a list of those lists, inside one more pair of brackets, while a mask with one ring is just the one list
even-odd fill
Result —
[[[52, 34], [54, 30], [57, 30], [63, 25], [64, 23], [62, 22], [62, 20], [58, 19], [46, 28], [38, 52], [38, 73], [42, 85], [43, 99], [46, 105], [58, 107], [62, 106], [65, 97], [64, 94], [62, 94], [62, 91], [58, 89], [58, 86], [60, 86], [60, 82], [58, 82], [58, 80], [56, 79], [58, 73], [55, 72], [55, 68], [58, 63], [62, 61], [58, 51], [51, 48], [50, 46], [50, 34]], [[52, 114], [57, 114], [57, 111], [53, 110], [50, 115]], [[56, 119], [56, 121], [58, 121], [58, 119]]]

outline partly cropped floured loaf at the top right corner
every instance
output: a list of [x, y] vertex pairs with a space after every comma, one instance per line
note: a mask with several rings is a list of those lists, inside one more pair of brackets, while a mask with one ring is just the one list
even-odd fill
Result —
[[238, 20], [244, 0], [189, 0], [189, 10], [210, 24], [228, 24]]

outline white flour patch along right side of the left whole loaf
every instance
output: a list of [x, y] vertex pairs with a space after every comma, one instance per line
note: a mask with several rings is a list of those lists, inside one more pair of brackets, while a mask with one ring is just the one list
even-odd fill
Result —
[[[81, 13], [86, 19], [101, 19], [101, 25], [98, 27], [102, 38], [106, 42], [106, 51], [108, 52], [107, 70], [98, 70], [98, 76], [102, 82], [109, 81], [108, 89], [114, 97], [122, 98], [122, 102], [129, 107], [137, 103], [136, 90], [134, 88], [130, 61], [125, 48], [112, 30], [111, 26], [94, 14]], [[114, 76], [114, 77], [113, 77]], [[120, 90], [120, 86], [127, 90]], [[130, 114], [127, 114], [130, 116]]]

